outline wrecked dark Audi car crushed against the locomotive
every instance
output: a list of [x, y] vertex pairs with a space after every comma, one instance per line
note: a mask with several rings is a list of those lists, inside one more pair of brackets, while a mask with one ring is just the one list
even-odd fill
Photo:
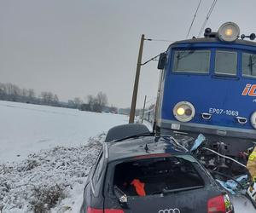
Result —
[[81, 213], [234, 212], [224, 189], [172, 137], [125, 133], [115, 140], [111, 131], [107, 135], [87, 178]]

